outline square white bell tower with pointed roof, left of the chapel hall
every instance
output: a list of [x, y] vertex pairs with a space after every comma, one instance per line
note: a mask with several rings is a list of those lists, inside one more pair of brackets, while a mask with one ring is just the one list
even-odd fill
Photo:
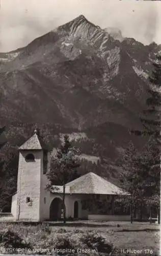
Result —
[[45, 174], [48, 168], [48, 148], [36, 129], [34, 135], [19, 147], [17, 220], [45, 219], [42, 202], [47, 193]]

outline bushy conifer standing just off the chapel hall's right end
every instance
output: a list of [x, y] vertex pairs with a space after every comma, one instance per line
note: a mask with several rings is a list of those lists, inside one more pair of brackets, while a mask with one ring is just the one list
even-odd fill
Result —
[[127, 207], [130, 207], [131, 223], [132, 216], [138, 210], [140, 211], [140, 220], [142, 221], [143, 206], [145, 205], [146, 184], [149, 176], [144, 166], [146, 157], [144, 159], [142, 154], [130, 142], [120, 164], [123, 169], [119, 177], [120, 185], [130, 196], [120, 197], [117, 201], [126, 205], [126, 210]]

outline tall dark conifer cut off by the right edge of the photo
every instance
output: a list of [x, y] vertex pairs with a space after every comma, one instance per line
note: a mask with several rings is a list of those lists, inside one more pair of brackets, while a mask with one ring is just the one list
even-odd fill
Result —
[[[160, 223], [160, 117], [161, 117], [161, 55], [157, 55], [156, 61], [153, 62], [153, 71], [149, 77], [150, 97], [146, 100], [147, 109], [141, 115], [141, 121], [144, 126], [143, 131], [132, 131], [132, 134], [141, 136], [150, 136], [149, 148], [146, 150], [146, 161], [143, 164], [148, 174], [148, 184], [151, 195], [147, 197], [147, 203], [157, 205], [158, 223]], [[150, 152], [150, 154], [149, 154]], [[145, 158], [145, 156], [144, 156]], [[142, 166], [143, 166], [142, 165]], [[144, 175], [145, 172], [144, 172]], [[152, 185], [155, 179], [155, 187]]]

